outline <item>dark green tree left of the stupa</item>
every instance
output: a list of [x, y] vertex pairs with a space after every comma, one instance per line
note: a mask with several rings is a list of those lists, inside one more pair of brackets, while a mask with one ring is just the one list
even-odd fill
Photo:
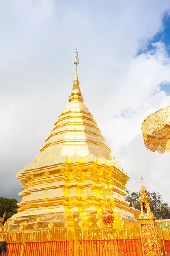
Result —
[[11, 218], [12, 215], [17, 213], [16, 209], [18, 201], [16, 199], [8, 199], [8, 198], [3, 198], [0, 197], [0, 217], [2, 218], [4, 211], [6, 210], [6, 215], [5, 215], [5, 221], [7, 221], [8, 218]]

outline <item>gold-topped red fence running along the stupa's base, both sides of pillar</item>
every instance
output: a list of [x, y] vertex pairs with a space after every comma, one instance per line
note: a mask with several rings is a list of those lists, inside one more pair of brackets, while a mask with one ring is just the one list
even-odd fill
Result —
[[[170, 253], [169, 230], [158, 230], [164, 251]], [[137, 221], [112, 228], [24, 229], [0, 234], [0, 239], [8, 242], [9, 256], [143, 256]]]

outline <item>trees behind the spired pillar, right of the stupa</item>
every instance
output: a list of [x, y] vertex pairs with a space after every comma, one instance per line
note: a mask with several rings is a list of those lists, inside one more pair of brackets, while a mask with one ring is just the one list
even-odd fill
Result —
[[[129, 195], [129, 191], [126, 190], [128, 193], [126, 197], [126, 201], [130, 203], [130, 207], [134, 207], [135, 209], [140, 210], [140, 204], [139, 204], [139, 195], [140, 192], [133, 192], [131, 195]], [[154, 213], [156, 219], [169, 219], [170, 218], [170, 212], [169, 207], [167, 203], [164, 203], [162, 200], [162, 196], [158, 192], [149, 192], [147, 191], [147, 194], [150, 196], [150, 208], [151, 211]]]

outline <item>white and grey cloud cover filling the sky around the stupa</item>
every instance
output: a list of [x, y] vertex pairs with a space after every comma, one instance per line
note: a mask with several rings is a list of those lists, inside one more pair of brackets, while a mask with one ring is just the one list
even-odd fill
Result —
[[66, 105], [78, 45], [85, 104], [130, 173], [127, 188], [139, 190], [142, 172], [147, 188], [169, 200], [169, 155], [147, 151], [141, 133], [144, 118], [169, 104], [161, 91], [170, 83], [167, 46], [159, 41], [147, 50], [164, 31], [169, 1], [19, 0], [0, 7], [0, 195], [17, 197], [16, 172], [38, 154]]

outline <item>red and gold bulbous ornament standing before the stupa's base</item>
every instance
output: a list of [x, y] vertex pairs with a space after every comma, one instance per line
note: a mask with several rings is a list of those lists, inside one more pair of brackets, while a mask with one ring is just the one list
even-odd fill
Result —
[[110, 235], [113, 237], [113, 234], [116, 231], [116, 229], [113, 229], [112, 227], [114, 221], [113, 210], [111, 208], [105, 208], [102, 213], [102, 221], [105, 224], [105, 234], [106, 236]]

